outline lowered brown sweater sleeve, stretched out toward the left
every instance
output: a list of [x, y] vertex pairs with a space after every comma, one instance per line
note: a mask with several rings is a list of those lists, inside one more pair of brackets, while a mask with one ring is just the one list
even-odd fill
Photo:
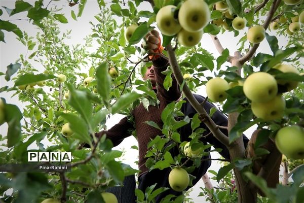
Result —
[[106, 134], [106, 138], [110, 139], [114, 146], [118, 146], [125, 138], [131, 136], [133, 130], [133, 124], [125, 117], [110, 129], [96, 132], [95, 136], [100, 137]]

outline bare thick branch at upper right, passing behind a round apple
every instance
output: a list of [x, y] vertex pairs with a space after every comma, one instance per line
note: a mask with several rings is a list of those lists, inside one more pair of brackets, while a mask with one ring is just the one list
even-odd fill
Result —
[[[272, 6], [270, 8], [270, 11], [267, 15], [267, 18], [263, 24], [263, 27], [265, 30], [267, 30], [267, 28], [272, 20], [272, 17], [274, 16], [280, 3], [281, 3], [281, 0], [275, 0], [273, 2]], [[240, 58], [239, 62], [243, 65], [246, 61], [248, 61], [254, 55], [254, 53], [258, 47], [259, 47], [259, 44], [254, 44], [253, 47], [251, 47], [251, 49], [248, 51], [248, 53], [245, 56], [243, 56], [242, 58]]]

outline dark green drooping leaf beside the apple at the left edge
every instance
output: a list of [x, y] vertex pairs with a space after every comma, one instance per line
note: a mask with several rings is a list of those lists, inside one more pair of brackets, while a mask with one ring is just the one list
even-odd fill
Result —
[[21, 139], [22, 113], [16, 105], [5, 104], [5, 120], [8, 128], [8, 147], [13, 147]]

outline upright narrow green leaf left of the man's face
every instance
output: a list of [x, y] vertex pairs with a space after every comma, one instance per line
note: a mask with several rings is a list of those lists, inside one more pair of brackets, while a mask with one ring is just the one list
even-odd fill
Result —
[[97, 91], [106, 105], [109, 105], [111, 78], [108, 74], [108, 65], [101, 63], [96, 69]]

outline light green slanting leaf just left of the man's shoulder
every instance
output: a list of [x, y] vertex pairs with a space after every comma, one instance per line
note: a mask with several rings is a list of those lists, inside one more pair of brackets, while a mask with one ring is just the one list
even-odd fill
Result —
[[112, 114], [119, 113], [121, 110], [126, 109], [129, 105], [133, 103], [136, 99], [141, 97], [141, 94], [138, 94], [136, 92], [128, 92], [126, 94], [123, 94], [121, 97], [119, 97], [112, 105]]

